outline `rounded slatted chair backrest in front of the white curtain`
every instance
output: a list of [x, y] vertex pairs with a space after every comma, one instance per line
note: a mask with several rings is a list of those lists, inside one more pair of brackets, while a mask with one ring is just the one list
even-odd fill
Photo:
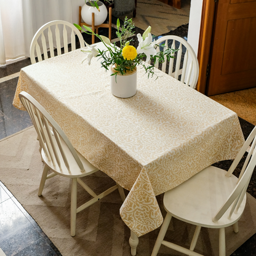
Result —
[[[63, 27], [62, 31], [60, 31], [61, 27]], [[53, 33], [53, 31], [55, 31], [55, 33]], [[69, 35], [70, 38], [68, 38]], [[82, 38], [81, 32], [69, 22], [65, 22], [64, 20], [54, 20], [53, 22], [48, 22], [41, 26], [30, 44], [31, 63], [36, 63], [35, 56], [37, 56], [38, 61], [41, 62], [42, 54], [44, 54], [44, 60], [46, 60], [48, 58], [48, 49], [50, 50], [50, 58], [55, 56], [55, 47], [57, 48], [57, 55], [62, 54], [62, 47], [64, 47], [64, 53], [68, 52], [68, 42], [71, 42], [71, 50], [75, 50], [75, 35], [78, 36], [80, 47], [84, 47], [84, 38]]]

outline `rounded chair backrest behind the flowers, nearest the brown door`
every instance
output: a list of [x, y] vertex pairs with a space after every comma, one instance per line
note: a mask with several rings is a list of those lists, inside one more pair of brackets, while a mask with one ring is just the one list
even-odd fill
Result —
[[[160, 47], [157, 47], [156, 50], [166, 50], [168, 48], [178, 49], [175, 54], [175, 58], [170, 58], [169, 68], [167, 69], [167, 58], [165, 57], [165, 62], [162, 63], [161, 70], [175, 79], [185, 82], [188, 86], [193, 89], [196, 87], [198, 82], [199, 75], [199, 65], [196, 54], [194, 53], [193, 48], [188, 44], [188, 42], [178, 36], [162, 36], [156, 41]], [[188, 59], [191, 58], [190, 67], [187, 71]], [[183, 62], [182, 62], [183, 59]], [[183, 63], [183, 65], [181, 65]], [[159, 63], [156, 63], [156, 68], [159, 68]], [[193, 75], [193, 78], [191, 76]]]

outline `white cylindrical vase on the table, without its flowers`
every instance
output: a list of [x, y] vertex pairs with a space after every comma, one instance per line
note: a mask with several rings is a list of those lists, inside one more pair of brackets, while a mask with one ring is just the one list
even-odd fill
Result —
[[[111, 74], [115, 72], [111, 66]], [[111, 93], [119, 98], [129, 98], [137, 92], [137, 68], [133, 71], [127, 71], [126, 74], [117, 74], [110, 76]]]

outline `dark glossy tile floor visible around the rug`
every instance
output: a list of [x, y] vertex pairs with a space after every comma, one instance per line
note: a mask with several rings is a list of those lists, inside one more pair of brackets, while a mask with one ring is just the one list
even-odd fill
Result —
[[[142, 30], [136, 28], [136, 34], [142, 32]], [[188, 25], [181, 26], [177, 30], [167, 34], [175, 34], [186, 39], [187, 32]], [[102, 32], [102, 34], [104, 33], [105, 32]], [[108, 35], [106, 34], [106, 36]], [[115, 38], [115, 30], [113, 30], [112, 38]], [[87, 37], [86, 41], [90, 43], [90, 38]], [[13, 63], [4, 69], [0, 68], [0, 140], [32, 125], [25, 111], [17, 110], [12, 106], [12, 100], [18, 81], [18, 72], [20, 68], [27, 65], [30, 65], [30, 59]], [[214, 100], [217, 99], [214, 98]], [[225, 102], [225, 100], [223, 101]], [[241, 117], [244, 118], [243, 116]], [[248, 118], [244, 119], [250, 121]], [[241, 122], [244, 122], [243, 126], [247, 127], [248, 132], [254, 127], [252, 124], [242, 119]], [[254, 121], [252, 122], [254, 123]], [[245, 134], [245, 136], [246, 135], [247, 134]], [[251, 194], [254, 194], [254, 197], [256, 197], [255, 186], [251, 186], [250, 190], [252, 191]], [[47, 238], [46, 234], [44, 234], [37, 223], [34, 222], [33, 218], [1, 182], [0, 248], [7, 256], [61, 255], [54, 244]], [[232, 255], [256, 255], [256, 235], [252, 236], [252, 238], [239, 247]]]

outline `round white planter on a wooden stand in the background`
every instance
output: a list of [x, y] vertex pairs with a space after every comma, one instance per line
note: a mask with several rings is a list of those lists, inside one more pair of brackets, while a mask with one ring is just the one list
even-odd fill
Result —
[[105, 4], [103, 2], [97, 2], [100, 12], [96, 7], [92, 7], [90, 2], [86, 2], [84, 6], [82, 6], [81, 16], [82, 20], [88, 25], [92, 25], [92, 12], [94, 12], [94, 25], [98, 26], [105, 22], [106, 17], [108, 16], [108, 10], [106, 9]]

